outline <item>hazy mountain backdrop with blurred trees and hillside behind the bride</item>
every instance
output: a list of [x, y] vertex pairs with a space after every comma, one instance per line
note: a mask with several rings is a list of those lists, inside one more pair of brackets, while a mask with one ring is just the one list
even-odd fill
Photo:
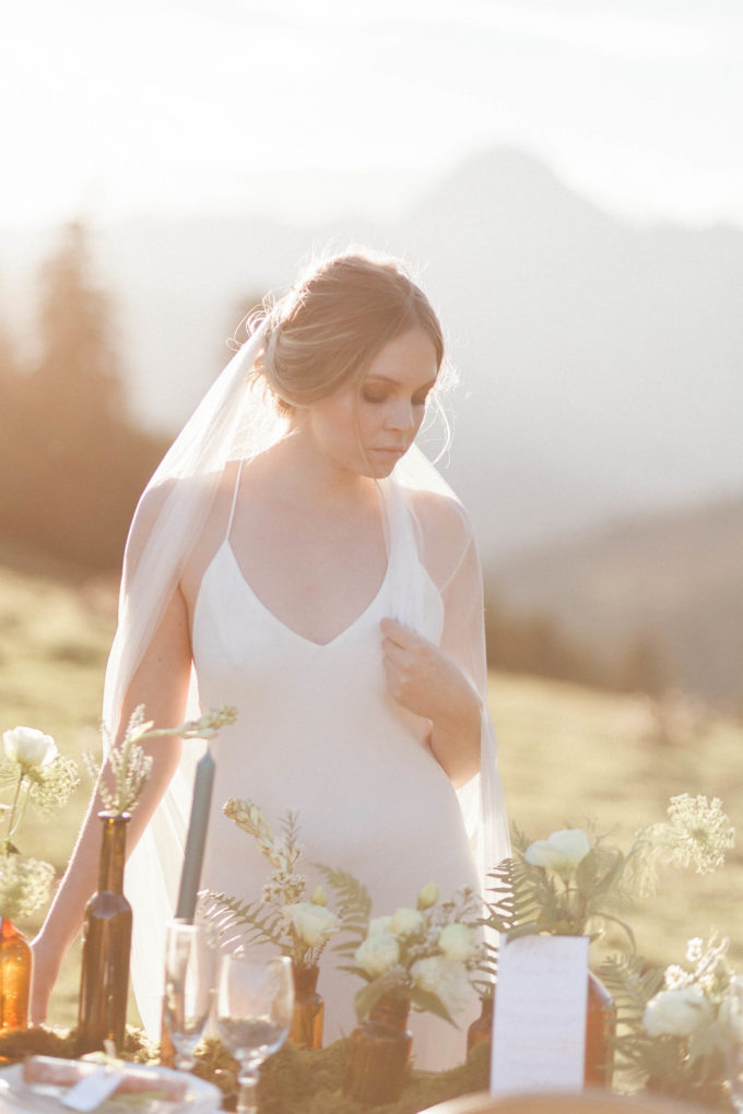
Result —
[[743, 232], [620, 219], [514, 148], [385, 223], [0, 228], [6, 541], [115, 571], [242, 314], [349, 242], [420, 264], [448, 328], [441, 466], [478, 535], [493, 659], [735, 705]]

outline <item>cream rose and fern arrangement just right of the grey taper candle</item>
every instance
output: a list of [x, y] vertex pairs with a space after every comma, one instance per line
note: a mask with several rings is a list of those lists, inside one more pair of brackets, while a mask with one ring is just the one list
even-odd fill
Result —
[[334, 891], [336, 909], [327, 907], [322, 885], [315, 886], [307, 899], [306, 878], [300, 870], [303, 852], [296, 814], [287, 812], [281, 832], [275, 834], [252, 801], [229, 798], [223, 812], [253, 837], [273, 869], [260, 899], [241, 902], [225, 893], [209, 892], [204, 915], [221, 937], [238, 930], [246, 944], [274, 945], [297, 968], [316, 966], [336, 932], [358, 929], [369, 917], [366, 890], [351, 874], [314, 863]]

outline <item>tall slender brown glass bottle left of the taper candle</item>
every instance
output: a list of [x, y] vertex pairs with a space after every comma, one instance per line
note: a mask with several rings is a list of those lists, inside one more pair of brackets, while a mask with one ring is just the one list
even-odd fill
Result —
[[124, 1046], [131, 906], [124, 897], [127, 812], [99, 812], [104, 832], [98, 891], [86, 908], [78, 1012], [78, 1055], [113, 1040]]

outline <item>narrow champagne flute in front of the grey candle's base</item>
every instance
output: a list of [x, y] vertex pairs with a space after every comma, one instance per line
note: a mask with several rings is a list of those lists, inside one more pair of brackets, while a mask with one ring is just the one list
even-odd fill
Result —
[[204, 925], [172, 920], [165, 934], [163, 1020], [175, 1048], [175, 1066], [188, 1072], [212, 1007], [216, 951]]

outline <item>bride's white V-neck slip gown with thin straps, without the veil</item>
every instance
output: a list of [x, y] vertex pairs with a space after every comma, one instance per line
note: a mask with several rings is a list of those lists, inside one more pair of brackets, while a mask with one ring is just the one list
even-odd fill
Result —
[[[237, 492], [235, 492], [237, 494]], [[235, 501], [233, 500], [233, 514]], [[438, 883], [442, 898], [470, 886], [475, 860], [456, 791], [426, 743], [428, 724], [387, 691], [380, 619], [393, 614], [394, 544], [379, 592], [344, 631], [320, 645], [268, 610], [243, 576], [226, 536], [208, 565], [193, 622], [193, 652], [203, 707], [234, 705], [237, 722], [213, 743], [216, 772], [202, 888], [241, 900], [261, 897], [270, 867], [252, 837], [222, 813], [229, 797], [246, 798], [280, 830], [287, 810], [299, 819], [306, 893], [321, 881], [311, 863], [351, 872], [372, 898], [372, 916], [414, 907], [418, 891]], [[419, 564], [421, 633], [438, 643], [439, 592]], [[319, 989], [325, 999], [325, 1043], [349, 1034], [353, 998], [363, 985], [336, 970], [325, 949]], [[471, 1008], [459, 1028], [412, 1015], [420, 1067], [443, 1068], [465, 1057]]]

